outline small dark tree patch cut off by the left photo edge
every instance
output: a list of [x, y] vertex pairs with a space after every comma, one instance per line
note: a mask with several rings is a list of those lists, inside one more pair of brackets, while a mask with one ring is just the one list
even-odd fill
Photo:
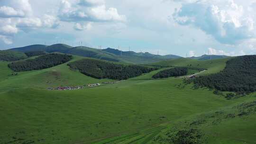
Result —
[[15, 51], [0, 51], [0, 61], [18, 61], [26, 59], [27, 55], [22, 52]]

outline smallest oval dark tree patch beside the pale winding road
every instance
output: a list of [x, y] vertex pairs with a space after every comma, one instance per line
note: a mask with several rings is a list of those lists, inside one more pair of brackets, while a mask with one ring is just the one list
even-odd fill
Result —
[[174, 76], [183, 76], [188, 73], [188, 68], [171, 68], [167, 70], [160, 71], [156, 73], [155, 75], [152, 76], [154, 79], [159, 79], [159, 78], [169, 78], [169, 77], [174, 77]]

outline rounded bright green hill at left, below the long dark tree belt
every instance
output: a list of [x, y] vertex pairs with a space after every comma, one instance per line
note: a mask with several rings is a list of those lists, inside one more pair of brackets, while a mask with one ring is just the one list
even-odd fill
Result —
[[[83, 57], [73, 56], [73, 60], [71, 60], [70, 62], [80, 60], [82, 58]], [[88, 83], [101, 83], [103, 81], [111, 81], [106, 79], [93, 79], [91, 77], [81, 74], [78, 71], [70, 70], [69, 67], [66, 65], [67, 63], [41, 71], [19, 72], [17, 76], [8, 76], [9, 74], [11, 74], [11, 71], [7, 67], [7, 64], [8, 63], [0, 62], [0, 66], [5, 68], [4, 72], [1, 71], [1, 76], [4, 80], [0, 81], [0, 90], [13, 88], [46, 89], [49, 87], [80, 86], [86, 85]]]

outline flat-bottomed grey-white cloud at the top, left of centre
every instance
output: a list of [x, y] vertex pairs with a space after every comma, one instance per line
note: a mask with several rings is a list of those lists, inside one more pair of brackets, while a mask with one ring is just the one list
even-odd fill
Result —
[[125, 22], [126, 16], [119, 15], [116, 8], [106, 8], [104, 0], [80, 0], [71, 3], [62, 0], [59, 8], [59, 18], [68, 22]]

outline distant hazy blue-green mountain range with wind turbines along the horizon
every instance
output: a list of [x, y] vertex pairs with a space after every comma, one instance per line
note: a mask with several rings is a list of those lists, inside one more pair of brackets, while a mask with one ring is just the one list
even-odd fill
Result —
[[[28, 45], [24, 47], [12, 48], [9, 49], [12, 51], [18, 52], [31, 52], [31, 51], [43, 51], [47, 53], [64, 53], [64, 54], [73, 54], [84, 57], [91, 57], [101, 60], [107, 60], [112, 62], [122, 62], [122, 63], [136, 63], [136, 64], [145, 64], [145, 63], [155, 63], [167, 59], [178, 59], [182, 58], [178, 55], [168, 54], [168, 55], [158, 55], [146, 53], [136, 53], [133, 51], [120, 51], [118, 49], [107, 48], [107, 49], [95, 49], [86, 46], [77, 46], [72, 47], [64, 44], [55, 44], [55, 45]], [[227, 57], [225, 55], [202, 55], [200, 57], [190, 57], [189, 59], [197, 60], [209, 60], [209, 59], [219, 59]]]

